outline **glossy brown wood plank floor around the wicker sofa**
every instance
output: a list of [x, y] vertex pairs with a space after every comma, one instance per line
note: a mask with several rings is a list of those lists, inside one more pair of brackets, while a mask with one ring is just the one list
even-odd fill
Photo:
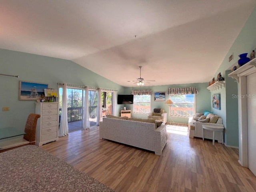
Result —
[[168, 133], [162, 156], [79, 130], [41, 146], [117, 192], [255, 192], [256, 177], [238, 163], [238, 149]]

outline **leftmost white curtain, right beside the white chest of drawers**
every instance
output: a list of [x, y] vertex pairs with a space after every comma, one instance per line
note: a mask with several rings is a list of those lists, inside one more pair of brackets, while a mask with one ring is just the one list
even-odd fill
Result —
[[62, 86], [62, 109], [60, 118], [59, 137], [68, 135], [68, 104], [67, 104], [67, 84]]

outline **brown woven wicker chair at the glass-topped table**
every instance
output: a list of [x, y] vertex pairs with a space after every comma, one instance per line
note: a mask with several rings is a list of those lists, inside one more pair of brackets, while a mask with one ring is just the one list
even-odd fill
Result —
[[6, 140], [0, 152], [11, 150], [24, 145], [34, 145], [36, 142], [36, 124], [37, 119], [40, 118], [39, 114], [31, 113], [28, 115], [24, 132], [26, 133], [23, 138], [14, 137]]

